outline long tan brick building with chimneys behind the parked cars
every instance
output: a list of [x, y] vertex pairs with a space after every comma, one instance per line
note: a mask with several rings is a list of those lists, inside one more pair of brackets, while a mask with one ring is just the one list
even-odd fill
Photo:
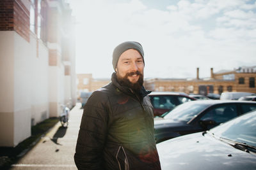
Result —
[[256, 93], [256, 66], [239, 67], [232, 71], [213, 72], [210, 78], [199, 78], [199, 68], [195, 79], [153, 78], [145, 80], [145, 88], [153, 91], [185, 92], [187, 94], [221, 94], [221, 92]]

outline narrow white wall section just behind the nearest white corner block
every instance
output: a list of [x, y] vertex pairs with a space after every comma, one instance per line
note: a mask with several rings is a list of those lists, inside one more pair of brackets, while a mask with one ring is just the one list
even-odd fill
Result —
[[[35, 125], [49, 118], [49, 97], [48, 97], [48, 49], [35, 36], [31, 36], [30, 42], [33, 45], [33, 64], [31, 68], [31, 124]], [[36, 53], [38, 43], [38, 54]]]

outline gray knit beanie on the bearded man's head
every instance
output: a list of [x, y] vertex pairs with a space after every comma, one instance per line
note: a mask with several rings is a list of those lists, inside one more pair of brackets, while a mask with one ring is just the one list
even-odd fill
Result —
[[[113, 51], [113, 59], [112, 59], [112, 64], [113, 64], [113, 68], [114, 70], [116, 69], [116, 64], [118, 62], [118, 59], [120, 57], [120, 55], [122, 55], [123, 52], [125, 52], [126, 50], [129, 49], [134, 49], [137, 50], [144, 62], [144, 52], [143, 52], [143, 48], [141, 46], [140, 43], [135, 42], [135, 41], [126, 41], [124, 43], [121, 43], [120, 45], [116, 46], [116, 48]], [[144, 62], [145, 64], [145, 62]]]

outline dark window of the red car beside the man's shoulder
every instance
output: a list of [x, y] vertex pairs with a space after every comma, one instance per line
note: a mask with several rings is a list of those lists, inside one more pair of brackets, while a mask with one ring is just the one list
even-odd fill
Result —
[[151, 103], [156, 109], [168, 109], [171, 110], [180, 102], [176, 96], [150, 96]]

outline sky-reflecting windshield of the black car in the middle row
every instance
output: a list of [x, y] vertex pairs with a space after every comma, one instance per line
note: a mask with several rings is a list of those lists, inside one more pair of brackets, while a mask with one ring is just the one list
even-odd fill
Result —
[[188, 102], [176, 106], [172, 111], [164, 116], [164, 119], [172, 119], [188, 122], [191, 118], [196, 117], [201, 111], [207, 108], [209, 104]]

